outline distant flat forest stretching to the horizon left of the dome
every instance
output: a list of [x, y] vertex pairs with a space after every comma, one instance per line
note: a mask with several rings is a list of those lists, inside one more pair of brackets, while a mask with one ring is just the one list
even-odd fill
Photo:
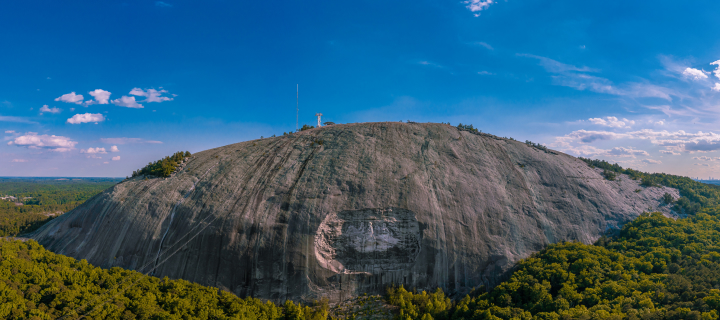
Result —
[[[0, 178], [0, 236], [33, 231], [68, 212], [121, 179]], [[22, 205], [19, 205], [22, 204]]]

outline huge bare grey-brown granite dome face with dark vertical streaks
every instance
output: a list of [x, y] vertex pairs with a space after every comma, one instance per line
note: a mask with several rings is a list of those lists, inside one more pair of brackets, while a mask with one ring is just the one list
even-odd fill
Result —
[[390, 284], [464, 293], [558, 241], [592, 243], [643, 211], [643, 188], [559, 152], [444, 124], [333, 125], [193, 155], [36, 231], [102, 267], [274, 301], [346, 299]]

